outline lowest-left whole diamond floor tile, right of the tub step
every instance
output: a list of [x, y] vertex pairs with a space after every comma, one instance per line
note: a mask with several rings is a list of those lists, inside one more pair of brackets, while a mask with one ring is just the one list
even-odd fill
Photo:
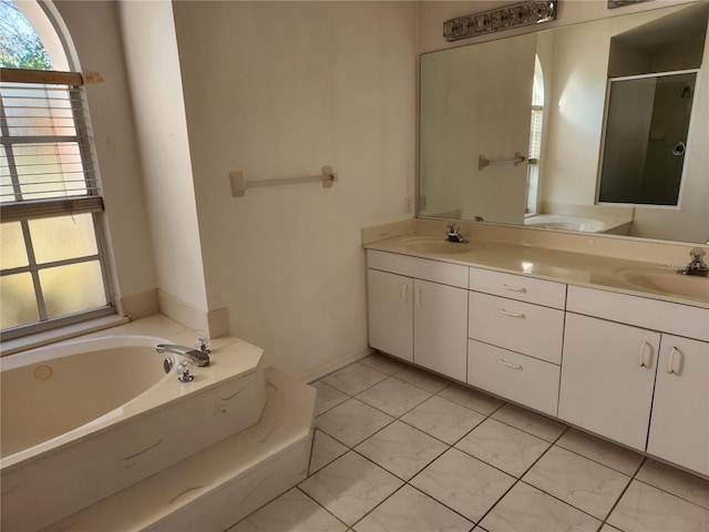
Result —
[[403, 482], [356, 452], [348, 452], [300, 483], [299, 488], [352, 525]]

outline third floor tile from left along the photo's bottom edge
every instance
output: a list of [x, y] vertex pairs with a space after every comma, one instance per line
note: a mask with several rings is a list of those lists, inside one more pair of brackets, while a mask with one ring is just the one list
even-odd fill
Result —
[[596, 531], [600, 521], [518, 482], [481, 521], [489, 532]]

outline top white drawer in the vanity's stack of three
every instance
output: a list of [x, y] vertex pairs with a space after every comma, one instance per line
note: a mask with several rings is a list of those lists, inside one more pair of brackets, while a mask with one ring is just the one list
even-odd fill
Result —
[[470, 268], [470, 289], [563, 309], [566, 285], [534, 279], [524, 275], [504, 274], [491, 269]]

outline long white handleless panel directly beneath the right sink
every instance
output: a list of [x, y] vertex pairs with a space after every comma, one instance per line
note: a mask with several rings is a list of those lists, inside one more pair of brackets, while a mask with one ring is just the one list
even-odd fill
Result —
[[709, 308], [569, 286], [566, 310], [709, 341]]

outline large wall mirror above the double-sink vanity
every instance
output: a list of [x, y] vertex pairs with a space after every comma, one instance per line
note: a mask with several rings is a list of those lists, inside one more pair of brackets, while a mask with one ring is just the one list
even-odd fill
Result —
[[422, 54], [419, 216], [709, 242], [708, 19], [698, 2]]

